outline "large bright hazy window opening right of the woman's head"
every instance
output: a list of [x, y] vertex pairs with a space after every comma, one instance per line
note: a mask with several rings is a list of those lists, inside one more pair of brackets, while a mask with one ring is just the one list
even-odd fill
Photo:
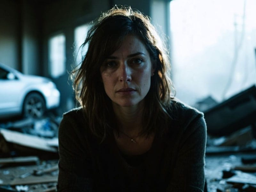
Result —
[[171, 61], [177, 97], [222, 101], [256, 83], [255, 0], [173, 0]]

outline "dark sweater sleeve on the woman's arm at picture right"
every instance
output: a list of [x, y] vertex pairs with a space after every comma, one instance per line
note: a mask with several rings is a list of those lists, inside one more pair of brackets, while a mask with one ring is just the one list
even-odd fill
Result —
[[[191, 110], [190, 110], [191, 111]], [[187, 113], [188, 115], [188, 113]], [[193, 115], [192, 115], [193, 116]], [[206, 146], [206, 124], [202, 113], [194, 112], [184, 123], [180, 123], [177, 140], [176, 161], [172, 178], [167, 187], [168, 192], [203, 192], [204, 190], [204, 156]], [[190, 119], [190, 120], [188, 120]]]

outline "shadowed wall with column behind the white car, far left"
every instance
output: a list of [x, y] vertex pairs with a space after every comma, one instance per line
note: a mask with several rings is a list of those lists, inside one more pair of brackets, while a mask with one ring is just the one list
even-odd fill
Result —
[[28, 0], [0, 1], [0, 62], [25, 74], [40, 74], [39, 8]]

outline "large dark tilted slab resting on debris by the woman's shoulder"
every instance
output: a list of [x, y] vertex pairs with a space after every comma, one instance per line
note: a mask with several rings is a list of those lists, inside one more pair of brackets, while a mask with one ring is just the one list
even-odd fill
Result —
[[229, 135], [255, 124], [256, 86], [253, 85], [203, 112], [207, 133], [212, 136]]

